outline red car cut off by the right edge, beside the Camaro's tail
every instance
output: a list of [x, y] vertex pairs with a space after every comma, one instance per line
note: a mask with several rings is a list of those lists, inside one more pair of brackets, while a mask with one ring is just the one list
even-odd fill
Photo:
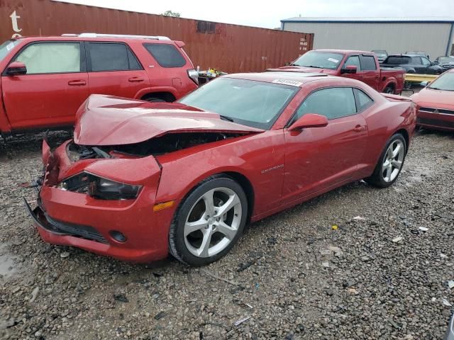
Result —
[[418, 106], [419, 126], [454, 131], [454, 69], [441, 74], [411, 98]]

